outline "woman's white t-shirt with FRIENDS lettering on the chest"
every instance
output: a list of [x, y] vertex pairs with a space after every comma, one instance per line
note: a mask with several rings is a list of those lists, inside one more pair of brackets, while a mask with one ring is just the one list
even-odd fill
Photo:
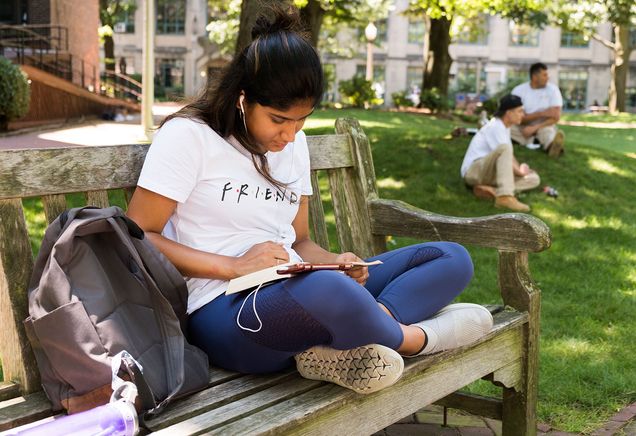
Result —
[[[163, 235], [181, 244], [225, 256], [241, 256], [253, 245], [282, 243], [292, 262], [292, 221], [301, 195], [311, 195], [309, 150], [296, 134], [278, 153], [266, 154], [270, 174], [288, 183], [285, 192], [261, 176], [238, 141], [221, 138], [207, 124], [174, 118], [157, 132], [138, 185], [177, 201]], [[186, 277], [188, 313], [225, 292], [227, 281]]]

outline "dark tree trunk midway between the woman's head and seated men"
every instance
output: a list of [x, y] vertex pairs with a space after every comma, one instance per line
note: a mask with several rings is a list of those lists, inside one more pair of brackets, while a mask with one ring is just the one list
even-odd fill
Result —
[[445, 17], [431, 19], [428, 33], [430, 51], [426, 57], [422, 90], [437, 88], [444, 97], [448, 95], [448, 76], [453, 59], [448, 52], [450, 46], [451, 20]]

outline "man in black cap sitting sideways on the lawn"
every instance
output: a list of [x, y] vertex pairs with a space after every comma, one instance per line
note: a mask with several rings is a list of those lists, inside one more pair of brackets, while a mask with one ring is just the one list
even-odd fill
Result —
[[505, 95], [494, 115], [470, 141], [462, 178], [477, 197], [494, 199], [495, 207], [528, 212], [530, 206], [517, 200], [515, 193], [536, 188], [541, 179], [513, 154], [510, 127], [519, 125], [524, 116], [521, 98]]

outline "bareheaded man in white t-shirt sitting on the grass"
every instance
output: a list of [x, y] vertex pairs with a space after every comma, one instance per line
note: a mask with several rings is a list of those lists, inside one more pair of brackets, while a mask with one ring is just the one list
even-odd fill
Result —
[[[550, 157], [563, 153], [565, 135], [557, 129], [563, 97], [559, 88], [548, 82], [548, 67], [537, 62], [530, 67], [530, 81], [517, 85], [512, 94], [521, 97], [526, 115], [521, 125], [510, 129], [512, 139], [530, 149], [543, 147]], [[540, 145], [535, 145], [538, 139]]]

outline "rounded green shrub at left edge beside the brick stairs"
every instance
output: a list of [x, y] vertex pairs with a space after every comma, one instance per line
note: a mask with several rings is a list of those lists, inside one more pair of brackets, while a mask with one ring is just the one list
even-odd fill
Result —
[[30, 98], [26, 75], [7, 58], [0, 57], [0, 131], [7, 130], [9, 121], [27, 114]]

